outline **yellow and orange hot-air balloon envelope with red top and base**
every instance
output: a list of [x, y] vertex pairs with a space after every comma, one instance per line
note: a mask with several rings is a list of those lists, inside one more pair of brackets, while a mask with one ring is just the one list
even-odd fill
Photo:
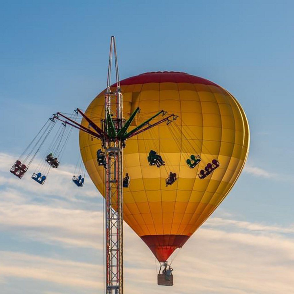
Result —
[[[160, 110], [178, 116], [126, 141], [123, 171], [131, 179], [124, 188], [124, 220], [149, 246], [159, 261], [183, 246], [213, 213], [237, 180], [249, 151], [249, 126], [238, 101], [224, 88], [204, 78], [180, 72], [151, 72], [121, 81], [123, 116], [141, 109], [131, 127]], [[103, 90], [88, 106], [86, 115], [98, 126], [104, 118]], [[154, 122], [166, 116], [159, 116]], [[88, 127], [86, 121], [82, 121]], [[80, 132], [80, 149], [89, 176], [102, 195], [104, 168], [98, 166], [100, 140]], [[151, 150], [165, 166], [150, 166]], [[199, 155], [190, 168], [187, 159]], [[209, 176], [198, 174], [208, 163], [220, 166]], [[170, 172], [177, 180], [166, 186]]]

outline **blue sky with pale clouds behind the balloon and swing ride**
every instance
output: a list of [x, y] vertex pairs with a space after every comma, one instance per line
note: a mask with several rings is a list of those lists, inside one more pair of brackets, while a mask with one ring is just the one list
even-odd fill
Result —
[[[248, 163], [177, 256], [178, 285], [169, 291], [293, 293], [293, 9], [293, 1], [1, 1], [1, 293], [102, 293], [101, 198], [89, 181], [82, 192], [63, 182], [76, 163], [77, 133], [54, 187], [7, 170], [46, 118], [85, 109], [105, 88], [111, 35], [121, 78], [202, 76], [240, 101], [250, 125]], [[151, 253], [126, 232], [128, 293], [165, 293], [154, 285]]]

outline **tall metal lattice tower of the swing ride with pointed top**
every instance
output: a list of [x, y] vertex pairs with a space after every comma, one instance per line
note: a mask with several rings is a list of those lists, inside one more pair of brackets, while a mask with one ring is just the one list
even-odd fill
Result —
[[[111, 91], [111, 70], [114, 51], [116, 91]], [[107, 88], [105, 93], [104, 129], [109, 130], [107, 118], [111, 116], [116, 133], [123, 126], [122, 93], [119, 84], [115, 38], [111, 37]], [[123, 146], [118, 138], [104, 138], [106, 155], [105, 224], [106, 224], [106, 294], [123, 294]]]

